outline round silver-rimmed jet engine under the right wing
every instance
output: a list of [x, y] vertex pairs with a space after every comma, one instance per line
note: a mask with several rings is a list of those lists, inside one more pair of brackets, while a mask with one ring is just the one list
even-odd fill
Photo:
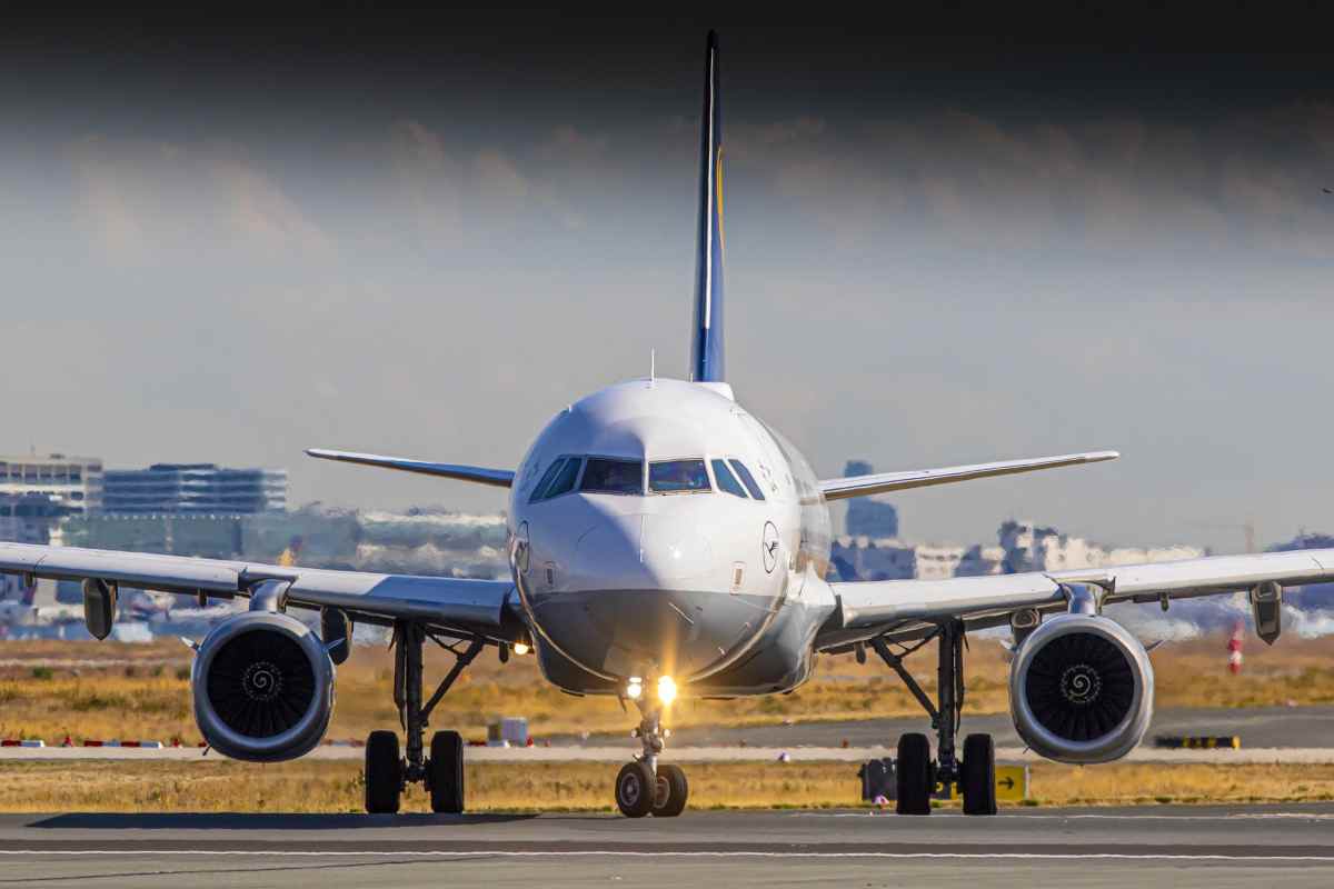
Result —
[[1053, 617], [1010, 664], [1010, 712], [1025, 744], [1049, 760], [1119, 760], [1149, 730], [1154, 668], [1121, 624], [1093, 614]]

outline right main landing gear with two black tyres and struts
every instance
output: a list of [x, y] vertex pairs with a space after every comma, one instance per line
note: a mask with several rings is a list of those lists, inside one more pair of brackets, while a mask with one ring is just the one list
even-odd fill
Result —
[[[936, 697], [932, 704], [912, 674], [903, 668], [903, 658], [932, 638], [939, 640], [936, 662]], [[995, 744], [990, 734], [970, 734], [963, 740], [963, 757], [955, 752], [955, 736], [963, 717], [963, 621], [952, 620], [900, 654], [890, 650], [883, 638], [871, 642], [876, 654], [899, 674], [903, 684], [931, 717], [936, 734], [936, 758], [931, 760], [931, 742], [924, 734], [910, 733], [899, 738], [895, 762], [899, 814], [931, 814], [931, 796], [936, 785], [958, 785], [964, 814], [996, 813]]]

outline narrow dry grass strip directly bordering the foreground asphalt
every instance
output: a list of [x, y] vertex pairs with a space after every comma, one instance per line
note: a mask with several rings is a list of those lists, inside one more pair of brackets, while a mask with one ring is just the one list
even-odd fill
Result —
[[[611, 805], [614, 764], [468, 766], [474, 812], [588, 810]], [[848, 762], [716, 762], [687, 766], [691, 808], [862, 806]], [[0, 764], [0, 812], [360, 812], [355, 761]], [[1111, 805], [1334, 798], [1330, 765], [1033, 766], [1029, 805]], [[412, 789], [404, 812], [428, 810]]]

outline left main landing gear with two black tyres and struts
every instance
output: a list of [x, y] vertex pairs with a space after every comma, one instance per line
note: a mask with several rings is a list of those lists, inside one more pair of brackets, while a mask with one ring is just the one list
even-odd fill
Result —
[[[422, 649], [431, 640], [455, 657], [454, 666], [426, 704], [422, 702]], [[424, 738], [431, 710], [450, 690], [464, 668], [482, 650], [482, 640], [444, 642], [415, 621], [394, 626], [394, 702], [406, 732], [407, 753], [399, 756], [399, 736], [394, 732], [371, 732], [366, 741], [366, 810], [392, 814], [399, 810], [403, 789], [408, 784], [426, 786], [431, 810], [458, 814], [463, 812], [463, 738], [458, 732], [431, 736], [431, 756], [426, 756]]]

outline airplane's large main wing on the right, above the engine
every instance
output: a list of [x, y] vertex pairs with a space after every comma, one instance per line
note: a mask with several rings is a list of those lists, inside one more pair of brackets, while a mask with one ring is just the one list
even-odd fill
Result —
[[1065, 584], [1099, 588], [1105, 590], [1103, 602], [1157, 602], [1163, 597], [1191, 598], [1249, 590], [1265, 581], [1282, 586], [1334, 581], [1334, 549], [1214, 556], [1050, 573], [834, 582], [831, 586], [839, 608], [816, 645], [828, 650], [876, 636], [906, 637], [948, 618], [962, 618], [967, 629], [999, 626], [1021, 609], [1065, 609]]

